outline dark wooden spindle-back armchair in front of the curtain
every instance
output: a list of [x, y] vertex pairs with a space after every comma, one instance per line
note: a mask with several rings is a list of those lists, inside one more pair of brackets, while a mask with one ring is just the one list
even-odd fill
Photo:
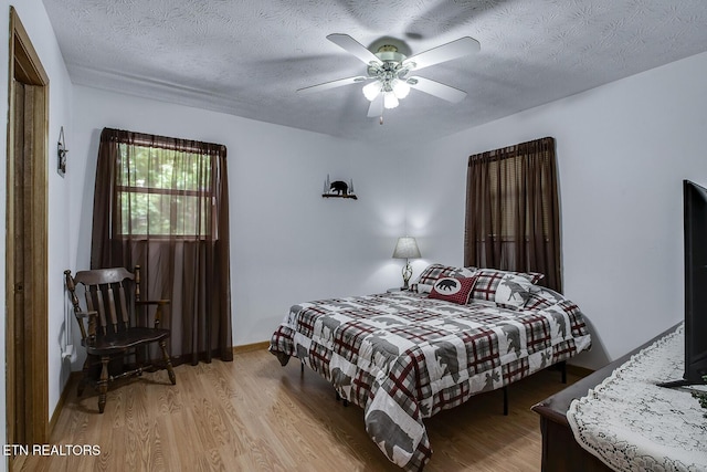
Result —
[[[115, 268], [80, 271], [75, 276], [71, 271], [64, 271], [64, 274], [81, 328], [81, 344], [87, 354], [78, 396], [86, 384], [93, 385], [98, 390], [98, 410], [103, 413], [108, 384], [113, 380], [141, 375], [150, 368], [166, 368], [171, 384], [177, 384], [167, 353], [170, 333], [159, 327], [162, 306], [169, 304], [169, 300], [140, 300], [139, 265], [135, 266], [135, 273]], [[82, 310], [76, 295], [78, 284], [85, 289], [85, 310]], [[148, 323], [150, 305], [157, 306], [152, 324]], [[154, 343], [160, 347], [161, 366], [144, 364], [149, 359], [148, 346]], [[126, 364], [129, 357], [135, 358], [133, 364]]]

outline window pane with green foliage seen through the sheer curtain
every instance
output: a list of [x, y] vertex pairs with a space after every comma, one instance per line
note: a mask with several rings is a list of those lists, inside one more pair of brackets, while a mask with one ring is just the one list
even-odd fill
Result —
[[211, 156], [119, 145], [123, 234], [199, 237], [211, 228]]

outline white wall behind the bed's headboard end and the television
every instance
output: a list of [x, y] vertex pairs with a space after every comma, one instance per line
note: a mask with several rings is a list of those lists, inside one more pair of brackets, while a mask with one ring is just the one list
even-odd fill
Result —
[[600, 367], [677, 323], [682, 180], [707, 185], [705, 76], [707, 53], [411, 149], [408, 212], [428, 255], [463, 261], [469, 155], [553, 136], [564, 293], [594, 329], [577, 364]]

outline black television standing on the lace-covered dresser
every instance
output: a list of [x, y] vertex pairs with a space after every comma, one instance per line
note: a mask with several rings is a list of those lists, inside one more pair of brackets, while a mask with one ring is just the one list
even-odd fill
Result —
[[683, 180], [685, 239], [685, 375], [661, 384], [706, 384], [707, 375], [707, 189]]

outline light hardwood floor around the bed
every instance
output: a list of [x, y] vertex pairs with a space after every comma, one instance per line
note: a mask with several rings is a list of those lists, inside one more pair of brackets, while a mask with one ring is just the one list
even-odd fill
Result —
[[[334, 389], [299, 363], [281, 367], [266, 350], [233, 363], [179, 366], [146, 374], [108, 391], [104, 415], [75, 385], [51, 434], [66, 444], [97, 445], [98, 455], [29, 455], [28, 471], [401, 471], [369, 439], [363, 411], [344, 407]], [[568, 374], [568, 384], [580, 377]], [[558, 371], [425, 420], [433, 454], [425, 471], [539, 471], [539, 417], [530, 407], [564, 388]], [[71, 448], [68, 448], [71, 449]], [[51, 451], [50, 451], [51, 452]]]

